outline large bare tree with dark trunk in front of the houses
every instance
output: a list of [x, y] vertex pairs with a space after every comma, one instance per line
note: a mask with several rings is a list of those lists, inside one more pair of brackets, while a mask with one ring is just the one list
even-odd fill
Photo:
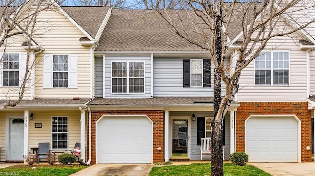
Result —
[[[261, 54], [275, 37], [298, 35], [315, 19], [313, 0], [180, 0], [189, 10], [160, 10], [156, 1], [147, 0], [190, 43], [209, 51], [213, 63], [214, 119], [211, 122], [211, 176], [223, 176], [223, 119], [239, 91], [241, 71]], [[161, 1], [160, 1], [161, 2]], [[232, 33], [239, 33], [239, 38]], [[231, 37], [232, 38], [229, 38]], [[235, 39], [234, 39], [235, 38]], [[238, 40], [238, 41], [236, 41]], [[228, 54], [238, 43], [237, 54]], [[234, 46], [234, 49], [231, 49]], [[275, 46], [276, 47], [276, 46]], [[230, 64], [224, 64], [230, 57]], [[225, 84], [225, 94], [222, 85]], [[208, 95], [209, 96], [209, 95]]]

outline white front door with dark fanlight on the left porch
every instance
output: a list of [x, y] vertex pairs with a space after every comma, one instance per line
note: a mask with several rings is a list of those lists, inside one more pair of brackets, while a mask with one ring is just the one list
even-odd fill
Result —
[[9, 118], [8, 160], [23, 160], [24, 119]]

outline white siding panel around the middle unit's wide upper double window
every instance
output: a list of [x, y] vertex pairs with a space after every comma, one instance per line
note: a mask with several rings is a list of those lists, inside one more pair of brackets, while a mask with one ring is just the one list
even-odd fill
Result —
[[[143, 56], [143, 55], [139, 55], [139, 56], [105, 56], [105, 63], [104, 63], [104, 67], [103, 67], [103, 71], [104, 71], [104, 77], [103, 79], [105, 80], [103, 83], [102, 83], [102, 86], [103, 86], [103, 91], [104, 91], [104, 96], [105, 98], [134, 98], [134, 97], [151, 97], [151, 56], [148, 55], [148, 56]], [[100, 58], [97, 58], [96, 60], [99, 60]], [[99, 64], [101, 62], [99, 61], [96, 61], [96, 68], [98, 68], [96, 70], [96, 77], [97, 77], [97, 80], [96, 80], [96, 90], [97, 90], [97, 95], [100, 95], [100, 92], [98, 90], [100, 90], [100, 87], [98, 86], [99, 83], [102, 81], [102, 80], [99, 80], [99, 77], [100, 77], [100, 70], [99, 70]], [[124, 75], [125, 78], [126, 78], [126, 88], [128, 89], [126, 91], [126, 93], [114, 93], [112, 92], [112, 64], [113, 63], [127, 63], [126, 65], [126, 68], [127, 68], [127, 75]], [[142, 72], [141, 75], [133, 75], [133, 77], [130, 76], [130, 69], [129, 69], [129, 66], [130, 66], [130, 63], [143, 63], [143, 71], [142, 69], [136, 69], [137, 70], [137, 73], [138, 72]], [[140, 66], [142, 67], [142, 66]], [[139, 76], [139, 77], [138, 77]], [[114, 77], [115, 78], [115, 77]], [[129, 86], [132, 86], [132, 84], [130, 84], [130, 79], [144, 79], [143, 81], [143, 92], [140, 92], [140, 93], [136, 93], [136, 92], [130, 92], [129, 89], [130, 87]], [[115, 82], [114, 82], [115, 83]], [[142, 89], [141, 88], [141, 85], [137, 82], [135, 82], [134, 86], [136, 86], [138, 84], [138, 88], [139, 89]]]

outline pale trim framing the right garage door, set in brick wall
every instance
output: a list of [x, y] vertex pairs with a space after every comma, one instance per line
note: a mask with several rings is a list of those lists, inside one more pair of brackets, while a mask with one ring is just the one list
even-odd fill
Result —
[[[297, 159], [298, 159], [298, 162], [300, 163], [301, 162], [301, 120], [296, 116], [296, 115], [291, 115], [291, 114], [268, 114], [268, 115], [250, 115], [246, 120], [245, 120], [245, 131], [244, 131], [244, 145], [246, 144], [246, 122], [251, 118], [251, 117], [261, 117], [261, 118], [264, 118], [264, 117], [292, 117], [294, 118], [298, 125], [298, 134], [297, 134]], [[246, 146], [244, 146], [245, 148], [245, 153], [246, 153]]]

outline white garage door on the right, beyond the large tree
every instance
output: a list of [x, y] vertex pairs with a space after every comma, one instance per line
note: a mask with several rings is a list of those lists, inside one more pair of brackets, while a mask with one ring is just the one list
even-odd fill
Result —
[[298, 122], [294, 117], [250, 117], [245, 124], [249, 162], [298, 162]]

